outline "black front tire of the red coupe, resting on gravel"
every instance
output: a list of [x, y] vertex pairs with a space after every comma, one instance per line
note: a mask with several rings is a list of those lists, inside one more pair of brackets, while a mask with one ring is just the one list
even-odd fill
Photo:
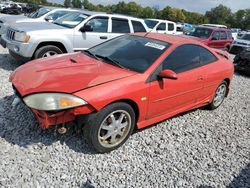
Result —
[[[113, 114], [112, 117], [114, 117], [114, 119], [116, 120], [115, 122], [118, 122], [118, 120], [120, 120], [120, 119], [116, 119], [117, 117], [115, 117], [115, 116], [117, 116], [120, 112], [121, 112], [121, 114], [123, 112], [125, 114], [125, 116], [122, 117], [122, 121], [124, 120], [125, 124], [126, 124], [126, 122], [130, 122], [130, 124], [128, 123], [128, 126], [126, 126], [124, 128], [115, 128], [115, 130], [105, 130], [102, 128], [103, 126], [113, 127], [113, 123], [110, 123], [110, 125], [105, 124], [105, 123], [107, 123], [109, 120], [113, 121], [113, 119], [111, 118], [111, 116], [112, 116], [111, 114]], [[119, 116], [118, 118], [120, 118], [120, 117], [121, 116]], [[111, 119], [109, 119], [109, 118], [111, 118]], [[121, 121], [120, 125], [122, 125], [122, 121]], [[117, 103], [113, 103], [113, 104], [106, 106], [105, 108], [103, 108], [102, 110], [97, 112], [94, 116], [92, 116], [88, 120], [88, 122], [85, 124], [83, 131], [84, 131], [84, 137], [86, 138], [87, 142], [91, 146], [93, 146], [93, 148], [97, 152], [106, 153], [106, 152], [110, 152], [112, 150], [115, 150], [118, 147], [120, 147], [121, 145], [123, 145], [126, 142], [126, 140], [129, 138], [129, 136], [132, 134], [134, 127], [135, 127], [135, 113], [134, 113], [133, 108], [127, 103], [117, 102]], [[124, 132], [123, 136], [118, 135], [118, 134], [115, 135], [115, 140], [118, 139], [118, 142], [116, 142], [115, 144], [112, 145], [112, 143], [111, 143], [112, 136], [107, 137], [107, 139], [105, 139], [105, 141], [101, 141], [102, 140], [101, 138], [103, 138], [107, 135], [110, 135], [110, 132], [113, 132], [116, 134], [118, 132], [117, 129], [120, 129], [120, 131], [119, 131], [120, 133]], [[106, 131], [106, 134], [104, 134], [105, 131]], [[102, 136], [100, 136], [101, 134], [102, 134]], [[117, 138], [117, 136], [118, 136], [118, 138]], [[121, 138], [119, 138], [119, 136]]]

